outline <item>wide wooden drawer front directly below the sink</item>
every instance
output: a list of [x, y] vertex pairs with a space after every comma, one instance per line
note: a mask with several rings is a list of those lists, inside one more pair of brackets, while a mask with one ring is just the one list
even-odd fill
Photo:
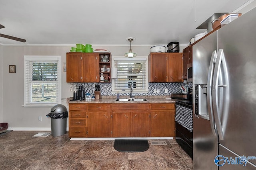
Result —
[[113, 104], [112, 110], [148, 110], [149, 104]]

